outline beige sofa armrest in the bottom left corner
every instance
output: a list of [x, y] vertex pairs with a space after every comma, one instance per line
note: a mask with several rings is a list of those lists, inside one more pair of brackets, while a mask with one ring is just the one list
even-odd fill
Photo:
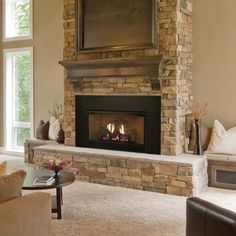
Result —
[[1, 203], [0, 235], [50, 236], [50, 194], [35, 192]]

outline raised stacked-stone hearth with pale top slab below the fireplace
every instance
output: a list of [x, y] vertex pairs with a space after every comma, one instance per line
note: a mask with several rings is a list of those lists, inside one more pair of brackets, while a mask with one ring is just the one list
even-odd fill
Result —
[[205, 156], [154, 155], [64, 145], [34, 148], [34, 163], [48, 159], [70, 161], [76, 179], [146, 191], [196, 196], [208, 182]]

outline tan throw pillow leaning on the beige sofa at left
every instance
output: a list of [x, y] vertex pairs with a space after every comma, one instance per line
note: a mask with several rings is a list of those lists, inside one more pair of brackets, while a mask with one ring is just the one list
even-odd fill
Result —
[[26, 172], [23, 170], [0, 176], [0, 203], [21, 196], [25, 176]]

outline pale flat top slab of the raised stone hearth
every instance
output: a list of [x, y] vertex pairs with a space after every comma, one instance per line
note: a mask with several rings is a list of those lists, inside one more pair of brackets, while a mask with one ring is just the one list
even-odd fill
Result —
[[121, 157], [124, 159], [133, 159], [138, 161], [151, 161], [157, 163], [171, 163], [171, 164], [184, 164], [186, 166], [192, 166], [194, 163], [202, 162], [204, 156], [191, 155], [191, 154], [181, 154], [178, 156], [167, 156], [167, 155], [157, 155], [157, 154], [147, 154], [147, 153], [137, 153], [137, 152], [124, 152], [124, 151], [114, 151], [106, 149], [95, 149], [95, 148], [82, 148], [82, 147], [72, 147], [64, 145], [43, 145], [34, 148], [35, 151], [47, 151], [55, 153], [76, 153], [83, 156], [92, 157]]

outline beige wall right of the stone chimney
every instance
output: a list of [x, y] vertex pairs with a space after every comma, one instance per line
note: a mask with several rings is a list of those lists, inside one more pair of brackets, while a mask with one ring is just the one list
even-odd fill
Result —
[[209, 104], [204, 122], [236, 125], [236, 1], [194, 0], [194, 98]]

